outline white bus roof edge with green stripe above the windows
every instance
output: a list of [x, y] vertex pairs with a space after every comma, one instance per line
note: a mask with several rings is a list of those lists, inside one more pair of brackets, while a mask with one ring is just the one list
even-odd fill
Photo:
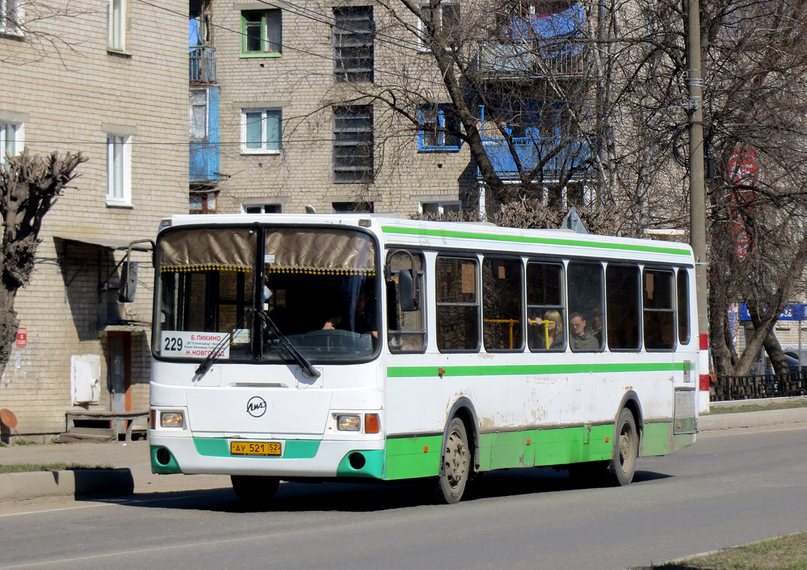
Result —
[[366, 227], [378, 235], [387, 248], [518, 252], [694, 264], [692, 248], [686, 243], [578, 234], [569, 230], [497, 227], [491, 223], [429, 222], [404, 218], [401, 214], [182, 214], [165, 220], [161, 229], [169, 226], [249, 223]]

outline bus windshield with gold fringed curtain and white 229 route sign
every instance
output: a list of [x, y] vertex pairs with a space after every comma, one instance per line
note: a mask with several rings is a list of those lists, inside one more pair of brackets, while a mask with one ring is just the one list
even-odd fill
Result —
[[158, 241], [154, 352], [171, 359], [315, 363], [378, 352], [370, 235], [315, 227], [204, 227]]

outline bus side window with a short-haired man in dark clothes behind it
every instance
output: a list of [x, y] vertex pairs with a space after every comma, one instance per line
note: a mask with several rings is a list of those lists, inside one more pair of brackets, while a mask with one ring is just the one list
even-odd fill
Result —
[[567, 268], [569, 344], [575, 352], [600, 351], [603, 334], [603, 266], [570, 261]]

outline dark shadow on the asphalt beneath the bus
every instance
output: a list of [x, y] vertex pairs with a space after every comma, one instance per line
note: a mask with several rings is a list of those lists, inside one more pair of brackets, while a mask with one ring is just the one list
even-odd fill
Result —
[[[642, 484], [669, 477], [664, 473], [638, 471], [633, 481]], [[151, 509], [208, 510], [223, 513], [344, 511], [376, 512], [432, 504], [431, 481], [408, 483], [299, 483], [280, 485], [269, 509], [255, 509], [236, 498], [232, 489], [203, 489], [171, 493], [135, 493], [131, 497], [107, 499], [123, 506]], [[583, 489], [567, 472], [551, 468], [512, 469], [485, 473], [472, 481], [463, 502], [534, 493]], [[596, 489], [592, 489], [595, 490]]]

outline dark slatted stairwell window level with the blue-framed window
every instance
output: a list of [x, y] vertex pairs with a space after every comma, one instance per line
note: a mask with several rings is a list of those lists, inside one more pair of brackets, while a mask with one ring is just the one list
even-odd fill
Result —
[[333, 107], [333, 182], [372, 182], [373, 165], [373, 107]]

